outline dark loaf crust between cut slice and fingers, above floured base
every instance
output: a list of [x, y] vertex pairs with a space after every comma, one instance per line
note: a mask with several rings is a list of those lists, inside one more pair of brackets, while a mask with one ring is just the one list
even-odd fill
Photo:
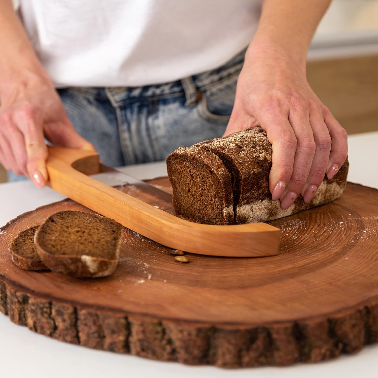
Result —
[[232, 177], [234, 204], [243, 205], [270, 197], [269, 172], [272, 145], [261, 127], [244, 129], [198, 143], [217, 155]]

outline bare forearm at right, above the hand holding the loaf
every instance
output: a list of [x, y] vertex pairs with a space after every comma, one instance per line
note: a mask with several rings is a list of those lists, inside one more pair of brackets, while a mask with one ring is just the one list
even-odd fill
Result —
[[[259, 26], [249, 50], [285, 54], [305, 66], [316, 27], [331, 0], [263, 0]], [[266, 51], [265, 51], [266, 52]], [[248, 57], [248, 53], [247, 53]]]

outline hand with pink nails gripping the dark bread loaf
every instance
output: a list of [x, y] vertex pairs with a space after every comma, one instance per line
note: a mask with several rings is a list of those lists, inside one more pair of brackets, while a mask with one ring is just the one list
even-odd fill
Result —
[[279, 47], [250, 46], [225, 135], [260, 125], [273, 145], [269, 189], [283, 209], [309, 202], [347, 158], [347, 133], [315, 95], [306, 62]]

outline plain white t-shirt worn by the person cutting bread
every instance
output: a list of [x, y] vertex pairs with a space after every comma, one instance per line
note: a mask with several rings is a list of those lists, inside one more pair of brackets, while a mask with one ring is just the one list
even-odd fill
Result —
[[136, 87], [219, 67], [251, 41], [261, 0], [20, 0], [57, 87]]

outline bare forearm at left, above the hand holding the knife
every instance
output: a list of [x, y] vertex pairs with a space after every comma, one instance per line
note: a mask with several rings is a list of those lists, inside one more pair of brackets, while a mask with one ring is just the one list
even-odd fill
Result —
[[0, 95], [17, 77], [45, 76], [11, 0], [0, 0]]

